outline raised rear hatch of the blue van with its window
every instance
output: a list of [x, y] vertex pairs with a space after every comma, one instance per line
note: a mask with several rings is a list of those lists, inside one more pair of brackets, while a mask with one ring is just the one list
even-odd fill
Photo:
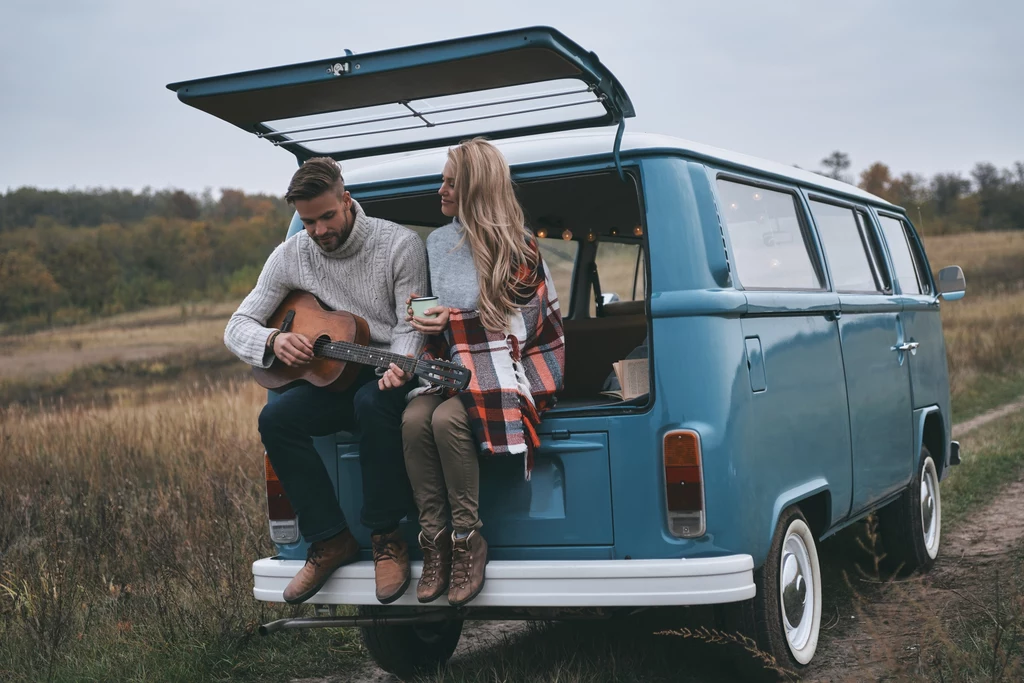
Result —
[[622, 126], [633, 104], [593, 52], [547, 27], [171, 83], [184, 103], [302, 160]]

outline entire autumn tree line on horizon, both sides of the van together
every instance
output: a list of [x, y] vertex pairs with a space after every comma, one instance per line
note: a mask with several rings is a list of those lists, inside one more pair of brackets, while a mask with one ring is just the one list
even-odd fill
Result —
[[[824, 175], [853, 182], [835, 152]], [[924, 234], [1024, 229], [1024, 163], [964, 176], [897, 175], [876, 162], [863, 189], [906, 208]], [[241, 298], [285, 233], [279, 197], [238, 189], [55, 190], [0, 195], [0, 326], [28, 330], [196, 300]]]

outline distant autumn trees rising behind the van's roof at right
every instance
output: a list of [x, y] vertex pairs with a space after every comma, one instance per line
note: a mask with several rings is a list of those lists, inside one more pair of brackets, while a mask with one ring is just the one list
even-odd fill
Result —
[[[853, 182], [850, 157], [834, 152], [821, 160], [823, 175]], [[865, 168], [857, 186], [906, 209], [923, 234], [1024, 229], [1024, 162], [999, 169], [975, 164], [965, 176], [937, 173], [896, 175], [882, 162]]]

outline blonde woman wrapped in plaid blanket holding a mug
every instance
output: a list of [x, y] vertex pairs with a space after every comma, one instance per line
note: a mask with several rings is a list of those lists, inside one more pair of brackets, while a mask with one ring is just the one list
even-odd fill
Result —
[[[487, 561], [478, 456], [521, 456], [528, 477], [540, 411], [561, 389], [564, 338], [554, 287], [501, 152], [482, 139], [451, 148], [438, 195], [453, 218], [427, 238], [438, 305], [423, 317], [410, 308], [408, 319], [428, 336], [426, 354], [473, 376], [456, 395], [411, 392], [402, 441], [422, 528], [417, 599], [430, 602], [447, 590], [449, 602], [462, 605], [483, 588]], [[397, 370], [382, 382], [404, 379]]]

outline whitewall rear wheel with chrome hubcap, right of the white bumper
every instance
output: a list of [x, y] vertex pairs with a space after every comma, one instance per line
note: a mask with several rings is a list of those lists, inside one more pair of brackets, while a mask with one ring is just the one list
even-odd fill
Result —
[[[778, 678], [810, 663], [821, 628], [821, 570], [817, 547], [800, 508], [779, 517], [764, 566], [755, 572], [753, 600], [722, 605], [723, 629], [752, 638], [746, 673]], [[756, 650], [756, 651], [754, 651]], [[751, 671], [753, 668], [754, 671]]]

